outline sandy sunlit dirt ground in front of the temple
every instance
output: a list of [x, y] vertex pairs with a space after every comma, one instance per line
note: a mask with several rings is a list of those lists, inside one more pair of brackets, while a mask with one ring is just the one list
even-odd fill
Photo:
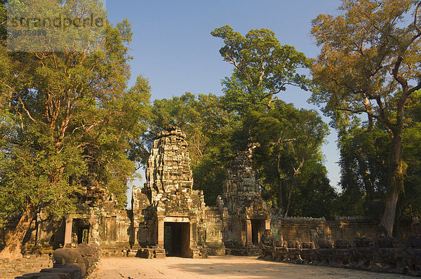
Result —
[[138, 278], [410, 278], [345, 268], [285, 264], [256, 257], [220, 256], [208, 259], [102, 258], [89, 279]]

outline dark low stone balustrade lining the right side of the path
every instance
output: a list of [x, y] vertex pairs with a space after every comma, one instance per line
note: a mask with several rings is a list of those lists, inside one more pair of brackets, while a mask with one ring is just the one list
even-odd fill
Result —
[[348, 240], [337, 240], [337, 243], [332, 245], [328, 240], [320, 240], [316, 245], [312, 242], [300, 244], [298, 241], [267, 243], [261, 245], [261, 258], [421, 276], [421, 249], [396, 247], [395, 238], [377, 238], [375, 245], [371, 238], [356, 238], [352, 247]]

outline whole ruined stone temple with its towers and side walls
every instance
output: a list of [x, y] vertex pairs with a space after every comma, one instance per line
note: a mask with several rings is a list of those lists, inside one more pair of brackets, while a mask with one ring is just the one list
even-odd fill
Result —
[[[24, 252], [45, 254], [58, 247], [97, 243], [102, 256], [201, 258], [263, 252], [273, 259], [336, 262], [332, 256], [335, 251], [323, 252], [324, 244], [330, 243], [331, 249], [333, 240], [335, 245], [345, 243], [346, 247], [340, 248], [349, 254], [354, 251], [349, 250], [349, 243], [356, 236], [377, 236], [377, 224], [365, 219], [328, 222], [324, 218], [277, 215], [260, 194], [250, 151], [237, 154], [227, 170], [222, 196], [218, 196], [215, 207], [207, 206], [203, 191], [194, 189], [186, 136], [178, 128], [162, 131], [154, 141], [146, 179], [142, 189], [133, 186], [132, 208], [119, 210], [114, 196], [89, 184], [93, 179], [86, 177], [86, 192], [78, 211], [57, 220], [39, 213], [25, 237]], [[9, 226], [9, 230], [13, 228], [12, 223]], [[0, 246], [7, 232], [7, 227], [0, 232]], [[272, 233], [270, 241], [268, 232]], [[315, 244], [323, 249], [308, 252]], [[323, 253], [333, 258], [325, 260]], [[358, 263], [355, 257], [343, 261]]]

